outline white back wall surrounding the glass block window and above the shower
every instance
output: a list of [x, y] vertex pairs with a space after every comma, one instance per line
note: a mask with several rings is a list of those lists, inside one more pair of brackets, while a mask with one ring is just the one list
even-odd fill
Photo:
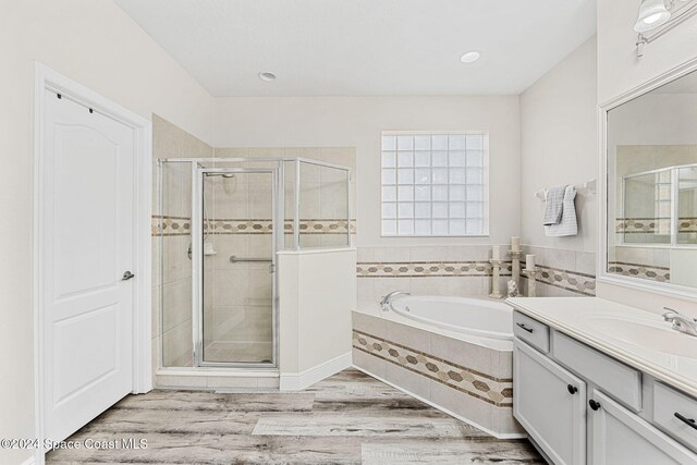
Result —
[[[490, 237], [380, 237], [380, 132], [484, 130]], [[216, 100], [216, 147], [355, 147], [359, 246], [508, 243], [519, 230], [518, 98], [316, 97]]]

